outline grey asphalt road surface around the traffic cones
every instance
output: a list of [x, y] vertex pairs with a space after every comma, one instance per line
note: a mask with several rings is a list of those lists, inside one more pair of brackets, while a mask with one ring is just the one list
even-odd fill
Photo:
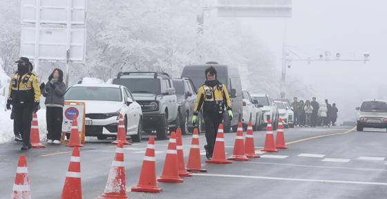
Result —
[[[207, 173], [183, 183], [162, 183], [161, 193], [130, 192], [138, 182], [147, 140], [125, 148], [129, 198], [387, 198], [387, 133], [352, 127], [285, 129], [289, 149], [261, 154], [261, 158], [232, 165], [204, 165]], [[257, 151], [265, 132], [254, 132]], [[227, 156], [235, 134], [225, 134]], [[188, 156], [191, 136], [183, 145]], [[167, 140], [156, 141], [156, 172], [160, 176]], [[200, 135], [200, 145], [205, 137]], [[71, 148], [48, 146], [21, 152], [20, 144], [0, 145], [0, 198], [10, 198], [17, 159], [26, 154], [32, 198], [60, 198]], [[115, 148], [108, 143], [86, 143], [81, 149], [83, 198], [103, 193]], [[205, 156], [202, 156], [205, 160]], [[186, 160], [187, 161], [187, 160]], [[186, 162], [187, 163], [187, 162]], [[204, 163], [204, 161], [202, 161]]]

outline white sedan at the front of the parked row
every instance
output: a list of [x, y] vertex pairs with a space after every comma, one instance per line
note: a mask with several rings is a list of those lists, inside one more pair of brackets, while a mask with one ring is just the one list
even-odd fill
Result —
[[64, 98], [85, 103], [86, 136], [97, 136], [99, 140], [117, 136], [122, 114], [126, 135], [131, 136], [133, 142], [140, 142], [142, 110], [128, 88], [113, 84], [77, 84], [68, 88]]

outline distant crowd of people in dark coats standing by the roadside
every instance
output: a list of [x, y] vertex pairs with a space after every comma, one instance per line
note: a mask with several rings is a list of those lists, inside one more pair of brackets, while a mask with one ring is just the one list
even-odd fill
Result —
[[299, 101], [297, 97], [293, 100], [291, 106], [294, 112], [294, 125], [308, 127], [336, 125], [339, 112], [336, 103], [330, 105], [328, 99], [325, 99], [325, 103], [319, 104], [316, 97], [313, 97], [312, 101], [306, 100], [305, 103], [303, 100]]

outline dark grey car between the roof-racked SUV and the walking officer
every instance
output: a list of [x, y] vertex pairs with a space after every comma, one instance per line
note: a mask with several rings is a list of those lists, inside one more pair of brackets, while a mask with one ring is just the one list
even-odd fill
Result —
[[180, 107], [180, 124], [182, 134], [192, 132], [193, 107], [196, 100], [196, 88], [189, 78], [173, 78], [173, 86], [176, 89], [178, 105]]

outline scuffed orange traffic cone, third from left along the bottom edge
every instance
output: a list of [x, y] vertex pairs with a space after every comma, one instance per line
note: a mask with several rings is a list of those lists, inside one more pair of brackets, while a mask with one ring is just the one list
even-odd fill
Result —
[[126, 178], [124, 165], [124, 149], [122, 143], [117, 143], [115, 157], [106, 182], [105, 193], [97, 199], [126, 199]]

